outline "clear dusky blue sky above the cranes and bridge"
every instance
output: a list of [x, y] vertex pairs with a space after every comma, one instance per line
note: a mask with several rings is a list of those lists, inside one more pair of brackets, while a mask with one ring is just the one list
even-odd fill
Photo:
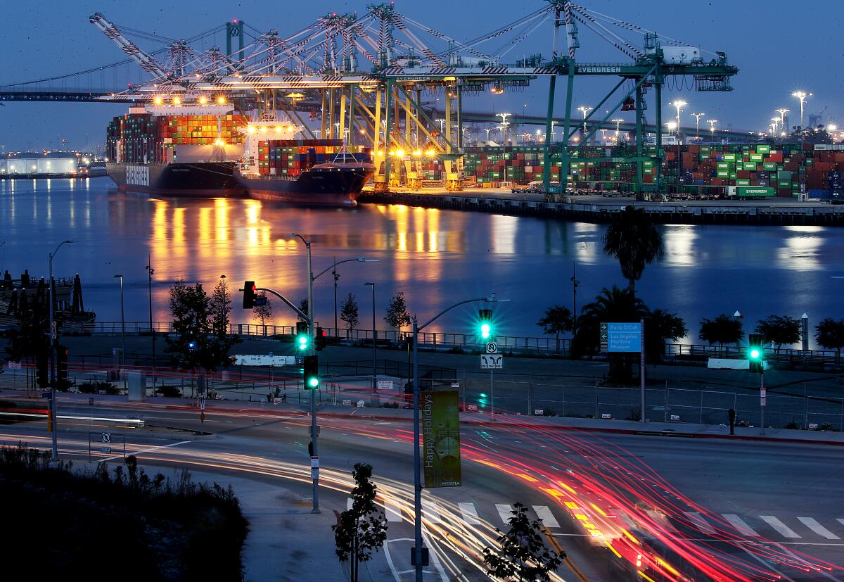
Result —
[[[717, 117], [721, 121], [719, 127], [732, 125], [734, 129], [759, 131], [767, 127], [770, 118], [776, 115], [774, 110], [779, 107], [791, 109], [792, 122], [797, 123], [799, 103], [791, 93], [793, 90], [806, 90], [814, 93], [807, 106], [807, 116], [825, 109], [824, 122], [844, 125], [844, 92], [841, 87], [844, 45], [840, 41], [844, 3], [841, 0], [807, 3], [803, 10], [798, 10], [798, 3], [785, 0], [650, 0], [625, 3], [592, 0], [582, 4], [686, 41], [692, 46], [727, 52], [730, 62], [740, 68], [740, 73], [733, 79], [735, 90], [732, 93], [706, 94], [687, 89], [679, 95], [671, 90], [665, 91], [666, 117], [674, 115], [674, 108], [668, 107], [668, 102], [679, 96], [689, 102], [684, 112], [684, 125], [694, 124], [688, 113], [705, 112], [707, 117]], [[399, 0], [396, 9], [446, 35], [468, 40], [543, 5], [539, 0], [525, 3], [500, 0], [415, 3]], [[233, 18], [242, 19], [261, 31], [277, 28], [281, 35], [289, 35], [327, 12], [358, 11], [363, 14], [365, 9], [366, 2], [322, 0], [310, 3], [220, 0], [191, 3], [157, 0], [143, 3], [123, 0], [8, 2], [4, 4], [7, 26], [0, 38], [4, 62], [0, 84], [73, 73], [122, 61], [125, 58], [123, 53], [89, 23], [89, 14], [97, 11], [118, 27], [123, 25], [170, 38], [187, 38]], [[515, 59], [535, 52], [549, 56], [551, 30], [551, 24], [545, 25], [508, 57]], [[641, 35], [624, 35], [641, 45]], [[163, 47], [160, 43], [137, 37], [133, 40], [149, 52]], [[432, 41], [431, 37], [423, 40]], [[225, 47], [225, 35], [218, 35], [216, 44]], [[433, 42], [430, 44], [435, 49], [441, 47]], [[669, 43], [663, 41], [663, 44]], [[207, 49], [213, 45], [214, 39], [197, 47]], [[484, 50], [492, 51], [499, 46], [500, 41], [493, 41], [484, 46]], [[581, 28], [581, 46], [577, 60], [582, 63], [618, 63], [627, 58], [584, 27]], [[136, 67], [135, 70], [139, 69]], [[125, 68], [123, 73], [125, 76]], [[615, 78], [579, 79], [574, 105], [593, 106], [614, 82]], [[547, 87], [547, 80], [540, 79], [523, 93], [468, 99], [464, 102], [464, 109], [517, 112], [527, 103], [528, 113], [544, 112]], [[652, 99], [652, 95], [648, 99]], [[564, 106], [565, 92], [558, 91], [555, 114], [562, 115]], [[7, 102], [0, 107], [0, 144], [5, 150], [55, 148], [57, 140], [62, 137], [68, 139], [68, 147], [73, 148], [102, 144], [108, 120], [125, 111], [126, 106], [123, 105]], [[647, 116], [652, 122], [652, 106]], [[625, 114], [625, 117], [633, 118], [631, 113]]]

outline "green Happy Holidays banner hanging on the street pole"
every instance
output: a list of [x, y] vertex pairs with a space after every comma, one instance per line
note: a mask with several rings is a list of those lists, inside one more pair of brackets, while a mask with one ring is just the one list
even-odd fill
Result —
[[460, 418], [457, 390], [422, 392], [425, 488], [460, 487]]

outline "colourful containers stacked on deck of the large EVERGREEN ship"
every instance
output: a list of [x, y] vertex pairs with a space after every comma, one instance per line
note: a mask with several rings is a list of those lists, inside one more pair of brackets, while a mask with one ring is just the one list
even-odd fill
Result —
[[209, 145], [217, 139], [242, 144], [243, 134], [238, 128], [243, 125], [246, 118], [240, 115], [130, 113], [109, 122], [106, 156], [127, 164], [163, 163], [170, 160], [166, 150], [176, 145]]

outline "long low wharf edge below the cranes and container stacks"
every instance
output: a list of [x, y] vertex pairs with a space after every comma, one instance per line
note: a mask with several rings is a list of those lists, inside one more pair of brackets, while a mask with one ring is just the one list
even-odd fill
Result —
[[463, 192], [421, 188], [405, 192], [364, 192], [358, 198], [361, 204], [407, 204], [582, 222], [606, 222], [626, 206], [636, 204], [657, 224], [844, 226], [844, 205], [796, 202], [793, 199], [641, 202], [623, 196], [588, 195], [574, 196], [570, 200], [549, 202], [542, 194], [516, 194], [511, 193], [509, 188], [473, 188]]

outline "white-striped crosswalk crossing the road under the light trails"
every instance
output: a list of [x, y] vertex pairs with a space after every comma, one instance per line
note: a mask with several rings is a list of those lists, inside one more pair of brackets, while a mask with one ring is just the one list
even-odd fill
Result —
[[[352, 500], [349, 498], [348, 506]], [[388, 522], [398, 523], [409, 519], [413, 507], [402, 505], [397, 500], [386, 498], [382, 500], [384, 515]], [[500, 527], [506, 525], [511, 518], [513, 506], [510, 503], [490, 503], [490, 507], [479, 506], [473, 502], [440, 502], [434, 499], [422, 500], [422, 515], [429, 524], [442, 524], [446, 521], [459, 519], [464, 525], [483, 525], [489, 522]], [[560, 530], [561, 522], [571, 524], [571, 511], [561, 506], [531, 505], [528, 513], [533, 519], [539, 519], [549, 530]], [[695, 536], [703, 534], [707, 537], [747, 538], [749, 540], [767, 539], [772, 541], [784, 540], [794, 543], [813, 543], [825, 541], [841, 541], [844, 546], [844, 518], [824, 518], [821, 520], [810, 516], [777, 516], [771, 514], [704, 514], [687, 511], [668, 517], [658, 511], [643, 512], [652, 522], [657, 523], [663, 530], [674, 535]], [[614, 519], [619, 526], [629, 530], [640, 529], [629, 512], [624, 509], [609, 508], [606, 519]], [[798, 542], [799, 541], [799, 542]]]

